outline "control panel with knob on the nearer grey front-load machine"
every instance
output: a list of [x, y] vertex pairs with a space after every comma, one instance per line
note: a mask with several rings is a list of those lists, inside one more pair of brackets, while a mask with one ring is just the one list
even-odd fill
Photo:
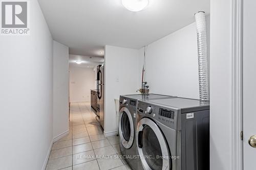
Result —
[[177, 129], [179, 110], [165, 106], [154, 105], [150, 102], [138, 101], [137, 112], [139, 115], [151, 117], [156, 123]]

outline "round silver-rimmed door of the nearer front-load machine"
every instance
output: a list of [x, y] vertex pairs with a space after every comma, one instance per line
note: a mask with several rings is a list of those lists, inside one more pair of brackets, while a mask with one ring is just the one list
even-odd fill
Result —
[[144, 169], [166, 170], [172, 167], [165, 138], [153, 120], [142, 118], [136, 131], [137, 148]]

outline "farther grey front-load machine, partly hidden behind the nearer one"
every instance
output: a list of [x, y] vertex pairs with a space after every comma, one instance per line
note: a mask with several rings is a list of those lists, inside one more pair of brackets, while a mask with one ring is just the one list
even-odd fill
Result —
[[118, 123], [120, 150], [121, 154], [133, 170], [136, 170], [138, 167], [138, 152], [135, 141], [138, 101], [150, 101], [166, 98], [174, 98], [174, 96], [160, 94], [134, 94], [120, 96]]

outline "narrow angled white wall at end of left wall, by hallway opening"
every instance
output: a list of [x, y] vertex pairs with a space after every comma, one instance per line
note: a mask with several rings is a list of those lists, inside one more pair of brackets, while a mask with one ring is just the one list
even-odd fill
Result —
[[53, 41], [53, 138], [69, 131], [69, 47]]

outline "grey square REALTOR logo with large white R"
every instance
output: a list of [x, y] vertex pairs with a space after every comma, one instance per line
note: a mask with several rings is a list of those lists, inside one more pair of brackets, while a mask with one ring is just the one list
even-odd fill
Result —
[[1, 35], [28, 35], [28, 2], [1, 2]]

